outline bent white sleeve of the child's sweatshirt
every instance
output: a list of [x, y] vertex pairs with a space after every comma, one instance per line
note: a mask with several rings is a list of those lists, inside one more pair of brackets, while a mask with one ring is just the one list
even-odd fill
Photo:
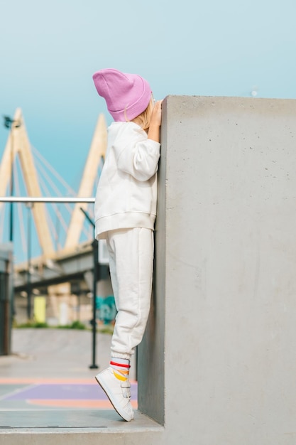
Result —
[[[128, 130], [125, 135], [121, 135], [121, 141], [114, 144], [117, 166], [137, 181], [148, 181], [158, 170], [160, 144], [147, 139], [146, 133], [139, 132], [137, 128]], [[121, 144], [123, 140], [127, 141], [127, 136], [128, 143]]]

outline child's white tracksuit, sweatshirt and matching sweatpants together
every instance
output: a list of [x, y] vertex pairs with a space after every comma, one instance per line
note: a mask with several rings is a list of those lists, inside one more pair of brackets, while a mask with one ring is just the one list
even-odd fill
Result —
[[134, 122], [113, 122], [99, 179], [95, 236], [106, 239], [116, 323], [111, 355], [130, 358], [141, 342], [150, 309], [156, 171], [160, 144]]

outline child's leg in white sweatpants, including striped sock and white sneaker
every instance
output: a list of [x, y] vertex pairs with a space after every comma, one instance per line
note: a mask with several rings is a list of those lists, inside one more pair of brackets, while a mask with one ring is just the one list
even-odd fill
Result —
[[111, 341], [109, 368], [96, 375], [97, 382], [123, 419], [133, 419], [129, 359], [141, 342], [150, 309], [153, 273], [153, 231], [109, 232], [107, 246], [116, 302], [116, 323]]

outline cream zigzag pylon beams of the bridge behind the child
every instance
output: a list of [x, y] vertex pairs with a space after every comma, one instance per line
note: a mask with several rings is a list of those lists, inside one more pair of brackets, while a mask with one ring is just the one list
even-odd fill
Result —
[[[94, 130], [94, 136], [84, 166], [80, 188], [77, 193], [78, 198], [91, 198], [94, 190], [94, 183], [97, 178], [99, 164], [104, 161], [106, 153], [106, 122], [104, 114], [99, 114], [97, 125]], [[19, 165], [23, 173], [23, 182], [26, 186], [26, 194], [29, 197], [42, 197], [40, 185], [38, 183], [38, 173], [34, 163], [31, 144], [28, 139], [26, 125], [23, 119], [21, 109], [16, 109], [11, 123], [11, 131], [6, 142], [4, 154], [0, 163], [0, 196], [5, 196], [11, 176], [13, 174], [13, 163], [18, 156]], [[11, 174], [12, 173], [12, 174]], [[0, 202], [0, 209], [4, 203]], [[73, 250], [80, 240], [80, 235], [84, 225], [85, 216], [80, 210], [86, 210], [86, 203], [77, 203], [72, 210], [65, 245], [59, 252]], [[55, 248], [52, 238], [52, 231], [48, 224], [45, 203], [35, 203], [32, 208], [33, 219], [38, 236], [38, 243], [43, 257], [55, 257]]]

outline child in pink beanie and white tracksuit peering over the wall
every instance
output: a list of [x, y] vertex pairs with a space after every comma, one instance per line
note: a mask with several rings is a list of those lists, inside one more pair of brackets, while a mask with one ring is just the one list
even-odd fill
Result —
[[133, 419], [128, 372], [150, 309], [161, 101], [136, 74], [100, 70], [94, 85], [114, 119], [94, 205], [95, 236], [106, 239], [117, 315], [109, 368], [97, 382], [126, 421]]

